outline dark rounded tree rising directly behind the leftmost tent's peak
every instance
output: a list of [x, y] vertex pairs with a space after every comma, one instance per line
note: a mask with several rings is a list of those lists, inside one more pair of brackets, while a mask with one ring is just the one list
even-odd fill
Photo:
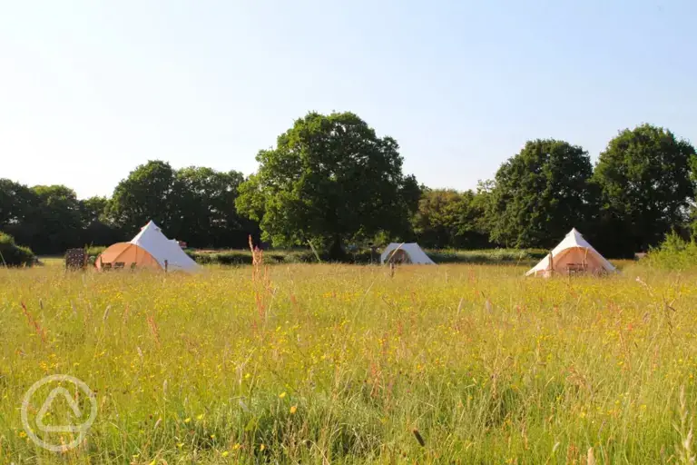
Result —
[[175, 202], [176, 172], [169, 163], [150, 161], [118, 183], [108, 207], [110, 220], [130, 235], [150, 220], [169, 233], [179, 231], [181, 213]]

